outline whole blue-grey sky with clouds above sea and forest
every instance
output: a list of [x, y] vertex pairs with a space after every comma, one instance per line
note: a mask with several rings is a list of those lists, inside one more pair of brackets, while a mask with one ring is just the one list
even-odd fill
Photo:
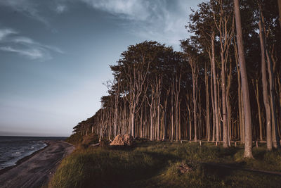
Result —
[[68, 137], [127, 46], [180, 51], [196, 0], [0, 0], [0, 135]]

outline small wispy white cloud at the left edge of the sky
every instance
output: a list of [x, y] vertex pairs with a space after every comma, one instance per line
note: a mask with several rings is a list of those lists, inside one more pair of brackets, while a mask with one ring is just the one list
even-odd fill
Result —
[[[14, 35], [10, 36], [12, 34]], [[32, 60], [40, 61], [51, 59], [52, 51], [64, 54], [58, 47], [35, 42], [29, 37], [20, 36], [19, 32], [15, 32], [15, 30], [9, 28], [0, 29], [0, 50], [16, 53]]]

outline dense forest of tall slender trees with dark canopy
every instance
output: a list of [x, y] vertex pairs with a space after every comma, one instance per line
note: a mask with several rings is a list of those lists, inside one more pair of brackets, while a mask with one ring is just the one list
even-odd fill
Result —
[[182, 51], [145, 41], [121, 54], [101, 108], [74, 134], [237, 141], [248, 158], [253, 141], [280, 148], [281, 1], [210, 0], [189, 17]]

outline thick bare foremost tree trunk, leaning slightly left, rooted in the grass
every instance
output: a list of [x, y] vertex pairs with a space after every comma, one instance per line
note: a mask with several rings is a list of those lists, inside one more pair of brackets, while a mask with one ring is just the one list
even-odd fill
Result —
[[240, 18], [240, 8], [239, 1], [234, 0], [235, 6], [235, 21], [236, 21], [236, 32], [237, 32], [237, 45], [238, 45], [238, 55], [241, 68], [241, 81], [243, 90], [243, 102], [244, 102], [244, 114], [245, 114], [245, 149], [244, 157], [253, 158], [251, 152], [251, 106], [249, 100], [249, 86], [247, 80], [246, 62], [244, 58], [244, 46], [242, 39], [242, 27]]

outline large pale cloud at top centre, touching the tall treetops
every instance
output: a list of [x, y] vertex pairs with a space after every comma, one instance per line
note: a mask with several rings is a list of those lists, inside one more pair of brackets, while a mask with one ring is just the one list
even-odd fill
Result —
[[106, 11], [124, 23], [131, 33], [148, 40], [157, 40], [176, 46], [188, 36], [190, 6], [196, 8], [200, 1], [188, 0], [80, 0], [93, 8]]

